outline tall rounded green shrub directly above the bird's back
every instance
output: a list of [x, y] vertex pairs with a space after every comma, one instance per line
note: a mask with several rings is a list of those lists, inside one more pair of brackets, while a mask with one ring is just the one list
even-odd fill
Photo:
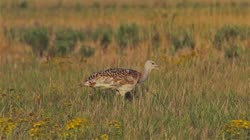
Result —
[[116, 40], [121, 48], [134, 47], [139, 42], [139, 28], [136, 24], [121, 24], [116, 34]]

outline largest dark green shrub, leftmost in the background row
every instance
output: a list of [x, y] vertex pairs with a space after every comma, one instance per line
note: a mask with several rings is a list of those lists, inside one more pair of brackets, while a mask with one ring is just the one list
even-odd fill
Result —
[[49, 32], [46, 27], [30, 27], [21, 30], [20, 40], [32, 47], [36, 55], [43, 55], [49, 45]]

